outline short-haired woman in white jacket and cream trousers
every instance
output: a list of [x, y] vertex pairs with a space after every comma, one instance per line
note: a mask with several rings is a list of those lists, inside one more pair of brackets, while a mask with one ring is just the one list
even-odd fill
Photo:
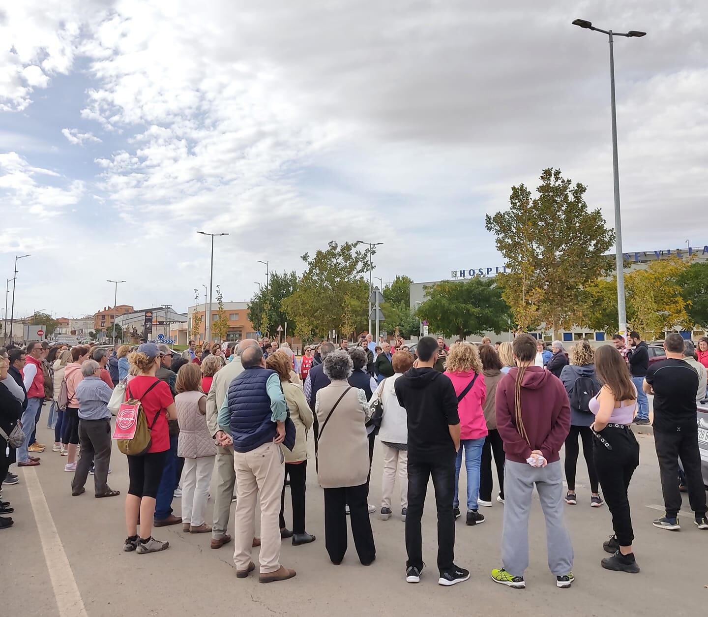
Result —
[[401, 520], [408, 514], [408, 424], [406, 410], [399, 405], [394, 383], [413, 366], [413, 356], [408, 351], [396, 351], [392, 358], [393, 377], [387, 377], [375, 390], [369, 401], [372, 405], [380, 397], [384, 414], [379, 429], [379, 441], [384, 448], [384, 475], [381, 481], [382, 521], [391, 518], [391, 499], [396, 485], [396, 473], [401, 489]]

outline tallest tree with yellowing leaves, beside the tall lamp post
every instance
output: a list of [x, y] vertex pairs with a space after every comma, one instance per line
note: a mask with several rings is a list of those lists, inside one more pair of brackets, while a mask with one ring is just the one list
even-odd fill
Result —
[[537, 196], [513, 186], [510, 208], [486, 215], [509, 272], [497, 276], [518, 329], [545, 322], [558, 334], [579, 321], [583, 289], [612, 267], [615, 234], [600, 210], [588, 210], [586, 187], [544, 169]]

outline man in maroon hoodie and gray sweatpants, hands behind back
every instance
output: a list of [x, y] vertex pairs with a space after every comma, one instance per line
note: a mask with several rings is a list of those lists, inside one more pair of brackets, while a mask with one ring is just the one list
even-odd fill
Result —
[[513, 343], [517, 367], [496, 390], [496, 425], [504, 442], [503, 567], [492, 570], [494, 582], [526, 587], [529, 562], [528, 519], [536, 485], [546, 519], [548, 565], [558, 587], [574, 577], [573, 546], [563, 520], [563, 476], [559, 450], [568, 436], [571, 409], [561, 380], [534, 366], [536, 340], [520, 334]]

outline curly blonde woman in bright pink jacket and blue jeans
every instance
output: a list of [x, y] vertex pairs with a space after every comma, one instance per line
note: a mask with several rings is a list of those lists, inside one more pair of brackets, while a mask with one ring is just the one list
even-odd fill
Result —
[[477, 346], [472, 343], [455, 343], [447, 355], [445, 375], [450, 378], [457, 394], [457, 412], [459, 414], [459, 451], [455, 461], [455, 518], [459, 516], [459, 470], [467, 468], [467, 524], [484, 523], [484, 516], [477, 511], [479, 499], [479, 463], [482, 446], [487, 431], [484, 420], [484, 402], [486, 385], [482, 374], [482, 363]]

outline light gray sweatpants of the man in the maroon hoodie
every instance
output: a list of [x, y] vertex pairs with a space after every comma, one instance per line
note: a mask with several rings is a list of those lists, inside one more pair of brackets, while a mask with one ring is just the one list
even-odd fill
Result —
[[546, 519], [548, 567], [555, 576], [564, 576], [573, 569], [573, 546], [563, 520], [563, 476], [559, 460], [544, 468], [506, 461], [501, 536], [504, 569], [515, 577], [523, 577], [529, 565], [528, 525], [534, 484]]

